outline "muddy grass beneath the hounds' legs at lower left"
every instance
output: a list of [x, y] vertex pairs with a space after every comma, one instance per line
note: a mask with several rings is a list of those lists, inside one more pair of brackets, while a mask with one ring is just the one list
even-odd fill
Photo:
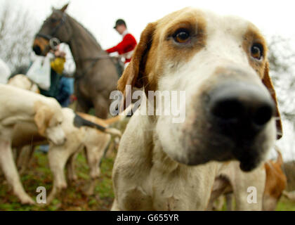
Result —
[[[69, 184], [65, 191], [58, 195], [53, 203], [46, 206], [21, 205], [19, 200], [8, 187], [4, 176], [0, 175], [0, 210], [110, 210], [114, 193], [112, 191], [112, 165], [114, 153], [110, 158], [103, 159], [101, 164], [101, 176], [96, 182], [94, 194], [87, 196], [83, 189], [89, 184], [89, 167], [86, 158], [80, 153], [77, 158], [78, 180]], [[27, 193], [36, 200], [38, 186], [44, 186], [46, 193], [52, 188], [52, 174], [48, 167], [47, 156], [44, 153], [35, 151], [32, 163], [27, 172], [21, 176], [22, 184]]]

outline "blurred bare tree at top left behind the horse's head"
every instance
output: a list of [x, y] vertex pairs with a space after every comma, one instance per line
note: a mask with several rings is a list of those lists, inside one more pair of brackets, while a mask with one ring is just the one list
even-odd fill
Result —
[[29, 65], [29, 53], [38, 25], [29, 11], [6, 0], [0, 10], [0, 58], [11, 70]]

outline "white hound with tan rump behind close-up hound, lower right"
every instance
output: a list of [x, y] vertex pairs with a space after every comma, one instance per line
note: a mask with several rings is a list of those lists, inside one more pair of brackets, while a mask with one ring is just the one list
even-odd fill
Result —
[[[227, 210], [232, 210], [232, 193], [235, 197], [236, 210], [273, 211], [277, 207], [284, 188], [287, 186], [287, 177], [282, 171], [282, 153], [275, 146], [277, 160], [268, 160], [251, 172], [242, 172], [237, 162], [230, 162], [230, 165], [221, 169], [214, 181], [208, 210], [213, 208], [214, 201], [222, 194], [226, 195]], [[247, 204], [247, 188], [256, 188], [256, 203], [249, 207]]]

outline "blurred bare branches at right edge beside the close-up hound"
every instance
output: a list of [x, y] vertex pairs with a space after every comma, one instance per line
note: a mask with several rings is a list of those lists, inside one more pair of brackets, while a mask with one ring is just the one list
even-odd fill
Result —
[[295, 49], [291, 39], [280, 36], [270, 37], [268, 43], [270, 76], [277, 92], [284, 129], [283, 138], [277, 145], [282, 149], [284, 160], [295, 160]]

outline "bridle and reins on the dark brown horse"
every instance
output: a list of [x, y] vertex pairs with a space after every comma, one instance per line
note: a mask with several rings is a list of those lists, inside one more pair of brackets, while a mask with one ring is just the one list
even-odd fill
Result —
[[[36, 34], [36, 37], [42, 37], [46, 40], [48, 40], [48, 45], [45, 47], [44, 52], [48, 52], [48, 50], [56, 49], [56, 46], [58, 44], [60, 44], [60, 40], [55, 37], [55, 34], [57, 34], [58, 30], [60, 29], [60, 27], [62, 27], [63, 25], [65, 25], [65, 21], [66, 21], [66, 14], [63, 13], [63, 17], [58, 21], [58, 25], [56, 25], [53, 30], [51, 31], [51, 34], [43, 34], [41, 32]], [[65, 26], [65, 28], [67, 29], [67, 26]], [[67, 29], [67, 33], [68, 29]], [[74, 34], [72, 33], [72, 36], [70, 37], [70, 40], [73, 39]], [[69, 41], [70, 41], [69, 40]], [[75, 72], [74, 78], [75, 79], [79, 79], [81, 77], [83, 77], [84, 75], [86, 75], [93, 67], [94, 65], [96, 65], [97, 61], [103, 58], [111, 58], [110, 56], [98, 56], [98, 57], [94, 57], [94, 58], [74, 58], [74, 61], [76, 62], [77, 60], [92, 60], [93, 62], [91, 63], [91, 65], [89, 65], [88, 68], [86, 68], [86, 70], [84, 70], [83, 72], [81, 72], [80, 75], [77, 74], [77, 72]]]

